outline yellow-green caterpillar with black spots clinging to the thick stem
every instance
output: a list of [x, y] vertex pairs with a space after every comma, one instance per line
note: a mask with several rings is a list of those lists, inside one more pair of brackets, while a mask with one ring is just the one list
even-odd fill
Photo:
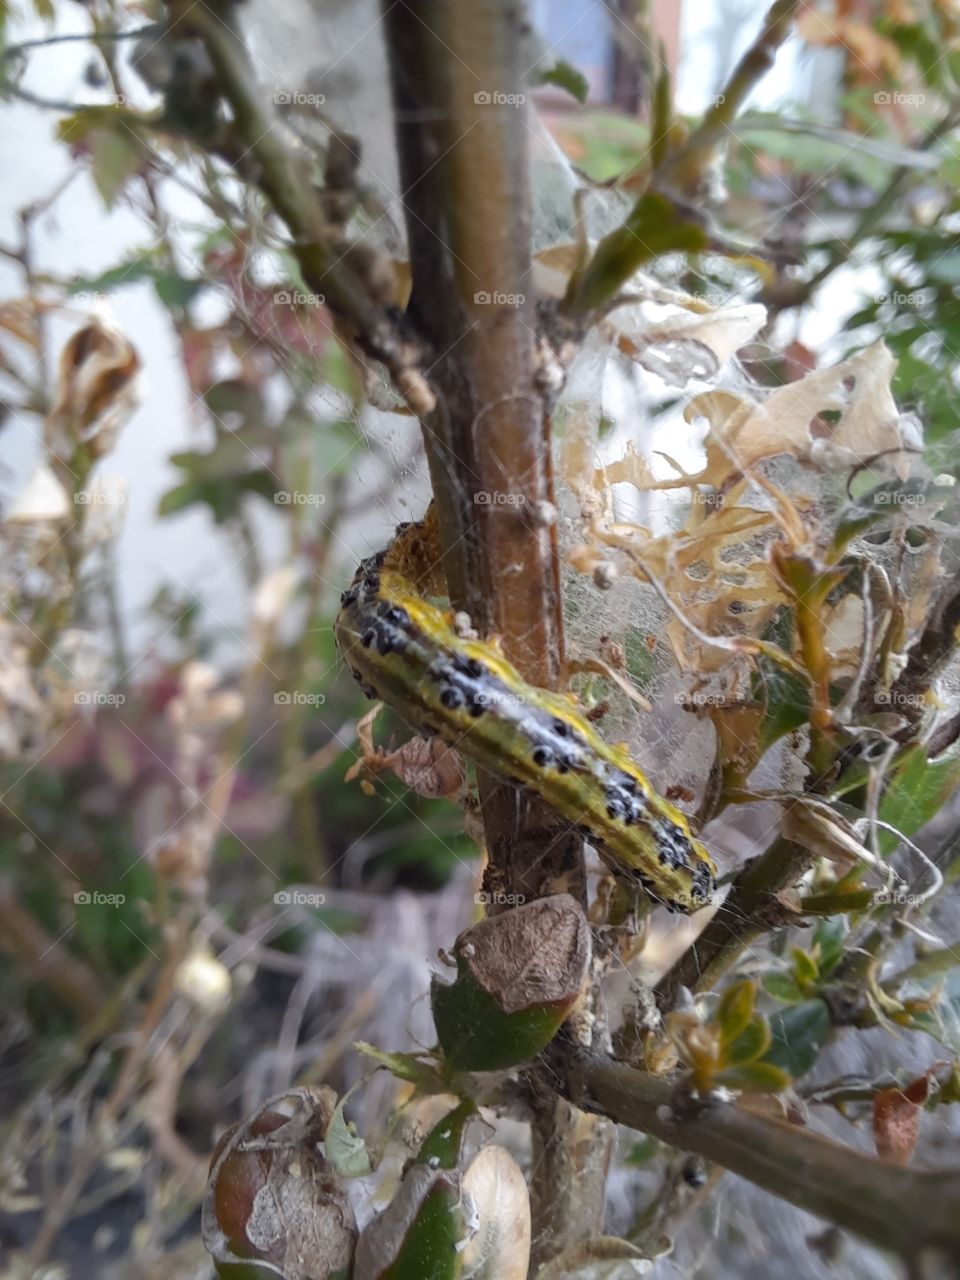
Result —
[[[337, 643], [367, 698], [393, 707], [490, 773], [536, 792], [567, 818], [618, 877], [671, 910], [704, 906], [717, 868], [685, 815], [611, 746], [570, 695], [527, 684], [498, 643], [463, 639], [402, 568], [402, 525], [365, 559], [340, 598]], [[413, 539], [411, 539], [411, 530]]]

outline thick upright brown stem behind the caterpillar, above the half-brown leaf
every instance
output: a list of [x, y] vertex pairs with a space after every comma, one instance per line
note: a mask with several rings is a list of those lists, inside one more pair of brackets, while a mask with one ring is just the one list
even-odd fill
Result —
[[[438, 353], [438, 406], [424, 433], [451, 598], [477, 630], [500, 636], [527, 680], [556, 687], [563, 631], [538, 376], [522, 8], [385, 9], [410, 315]], [[493, 778], [481, 780], [481, 801], [490, 859], [512, 893], [532, 899], [563, 878], [582, 897], [579, 842], [539, 801]]]

